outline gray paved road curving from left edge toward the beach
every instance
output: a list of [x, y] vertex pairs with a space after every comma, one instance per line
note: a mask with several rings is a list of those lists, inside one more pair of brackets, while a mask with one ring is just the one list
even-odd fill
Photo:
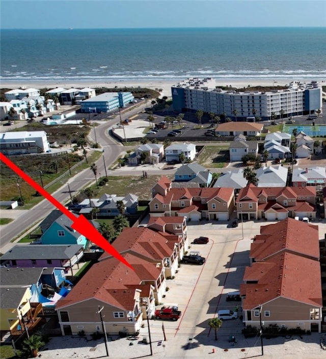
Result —
[[[139, 111], [142, 111], [145, 107], [145, 104], [139, 104], [134, 106], [131, 109], [128, 109], [127, 112], [122, 112], [122, 119], [126, 119], [134, 114], [137, 114]], [[96, 118], [95, 118], [96, 119]], [[106, 167], [109, 167], [119, 156], [119, 154], [126, 149], [118, 144], [115, 140], [111, 139], [108, 136], [107, 130], [112, 125], [116, 124], [120, 120], [119, 114], [112, 117], [112, 119], [101, 123], [96, 127], [96, 139], [97, 142], [103, 147], [103, 155], [96, 162], [98, 174], [103, 175], [104, 171], [104, 161]], [[94, 129], [90, 133], [91, 138], [95, 141]], [[88, 183], [94, 181], [93, 172], [90, 169], [84, 170], [83, 172], [77, 174], [69, 180], [70, 190], [72, 194], [74, 192], [82, 189]], [[59, 202], [65, 203], [69, 199], [69, 190], [68, 185], [63, 183], [63, 186], [58, 189], [55, 193], [52, 194]], [[1, 252], [6, 251], [6, 245], [10, 243], [13, 238], [16, 238], [21, 233], [31, 228], [34, 224], [39, 222], [42, 218], [47, 216], [55, 207], [49, 203], [47, 200], [40, 202], [38, 205], [34, 206], [29, 211], [25, 212], [23, 215], [20, 215], [19, 218], [15, 219], [13, 222], [1, 228], [1, 237], [0, 237], [0, 248]], [[19, 210], [17, 210], [19, 211]]]

